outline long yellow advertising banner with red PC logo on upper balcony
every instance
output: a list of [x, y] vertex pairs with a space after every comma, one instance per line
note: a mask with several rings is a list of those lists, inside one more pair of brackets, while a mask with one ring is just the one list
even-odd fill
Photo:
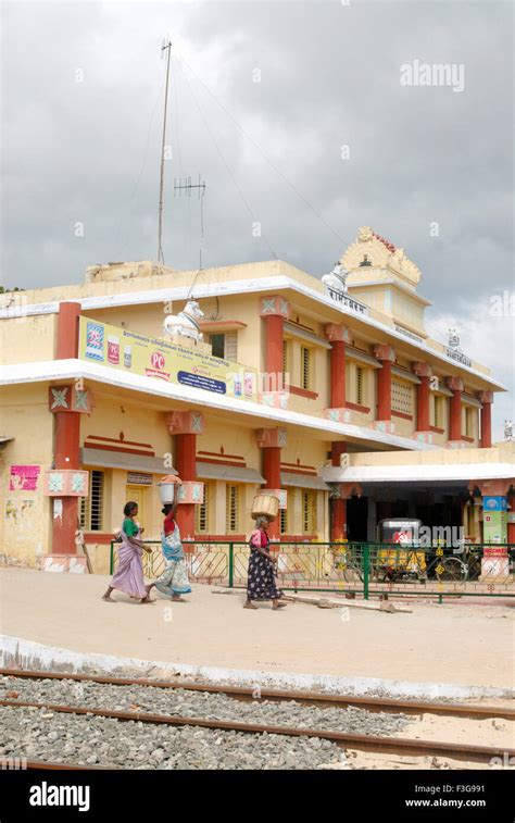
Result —
[[216, 395], [258, 400], [255, 369], [87, 317], [80, 317], [78, 358]]

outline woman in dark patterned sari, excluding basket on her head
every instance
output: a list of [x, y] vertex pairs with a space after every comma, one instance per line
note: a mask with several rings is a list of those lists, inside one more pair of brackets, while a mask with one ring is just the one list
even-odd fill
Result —
[[282, 591], [275, 584], [274, 571], [277, 558], [269, 552], [267, 528], [271, 521], [265, 515], [255, 521], [256, 528], [250, 536], [250, 559], [247, 582], [247, 601], [244, 609], [258, 609], [252, 600], [272, 600], [273, 609], [281, 609], [286, 603], [279, 602]]

